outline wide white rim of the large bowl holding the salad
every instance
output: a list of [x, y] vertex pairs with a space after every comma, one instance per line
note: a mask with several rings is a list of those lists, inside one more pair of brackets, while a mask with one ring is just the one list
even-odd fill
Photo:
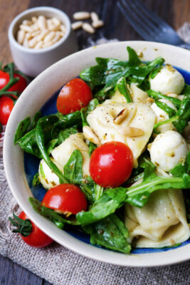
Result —
[[[14, 133], [21, 120], [26, 116], [33, 116], [41, 106], [51, 98], [51, 95], [71, 78], [78, 76], [80, 71], [95, 64], [95, 57], [112, 57], [127, 60], [126, 47], [131, 46], [135, 51], [142, 51], [143, 61], [150, 61], [157, 56], [163, 56], [167, 63], [171, 63], [179, 68], [190, 72], [189, 60], [190, 52], [183, 48], [169, 46], [162, 43], [152, 43], [144, 41], [125, 41], [120, 43], [108, 43], [102, 46], [88, 48], [64, 58], [50, 68], [43, 71], [27, 88], [23, 91], [16, 106], [11, 113], [4, 139], [4, 167], [6, 177], [11, 191], [28, 217], [52, 239], [62, 244], [68, 249], [72, 249], [85, 257], [97, 259], [111, 264], [121, 266], [162, 266], [174, 264], [189, 259], [190, 244], [175, 248], [167, 252], [157, 252], [149, 254], [121, 254], [106, 249], [100, 249], [90, 244], [80, 242], [67, 232], [58, 229], [55, 224], [48, 219], [41, 217], [34, 212], [28, 197], [31, 190], [28, 187], [26, 175], [23, 169], [23, 151], [14, 142]], [[51, 78], [51, 80], [48, 80]]]

